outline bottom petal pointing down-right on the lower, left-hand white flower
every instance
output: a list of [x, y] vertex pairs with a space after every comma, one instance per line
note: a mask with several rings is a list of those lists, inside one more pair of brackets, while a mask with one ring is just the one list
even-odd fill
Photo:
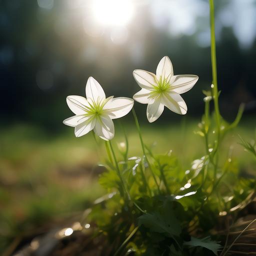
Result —
[[111, 118], [107, 115], [101, 115], [96, 119], [95, 133], [104, 140], [109, 140], [114, 136], [114, 124]]

